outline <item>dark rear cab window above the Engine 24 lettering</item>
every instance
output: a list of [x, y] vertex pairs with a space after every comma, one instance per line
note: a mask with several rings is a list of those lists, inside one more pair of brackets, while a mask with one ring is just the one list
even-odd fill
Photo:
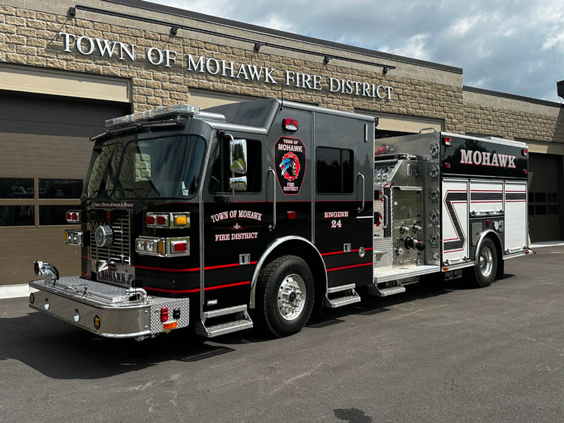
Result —
[[319, 194], [353, 192], [353, 150], [317, 147], [316, 184]]

